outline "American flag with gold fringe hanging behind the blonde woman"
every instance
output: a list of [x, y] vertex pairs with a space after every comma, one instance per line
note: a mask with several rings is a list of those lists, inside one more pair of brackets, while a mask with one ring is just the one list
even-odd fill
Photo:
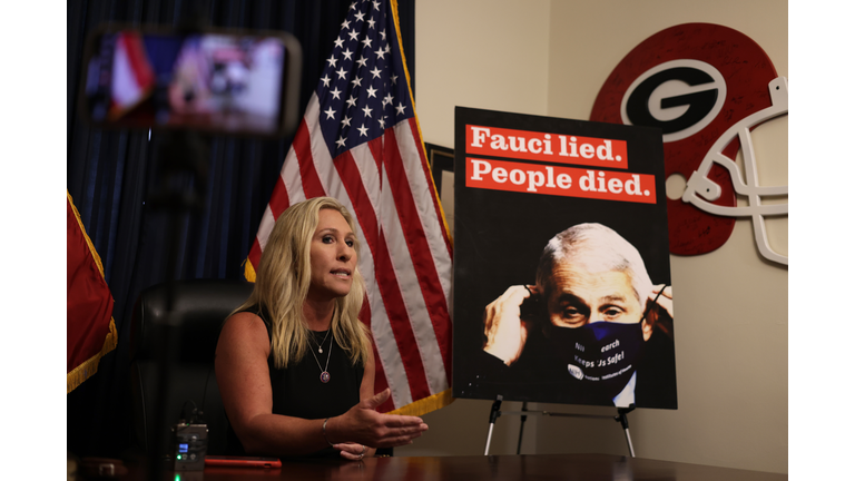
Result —
[[[312, 95], [246, 263], [255, 279], [273, 224], [306, 198], [337, 198], [364, 240], [360, 318], [374, 335], [379, 411], [451, 402], [451, 239], [413, 110], [394, 0], [354, 1]], [[367, 248], [366, 248], [367, 247]]]

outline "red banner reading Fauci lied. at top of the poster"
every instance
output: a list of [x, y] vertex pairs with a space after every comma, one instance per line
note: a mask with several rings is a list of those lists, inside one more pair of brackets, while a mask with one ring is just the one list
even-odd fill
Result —
[[626, 169], [626, 140], [466, 125], [466, 154]]

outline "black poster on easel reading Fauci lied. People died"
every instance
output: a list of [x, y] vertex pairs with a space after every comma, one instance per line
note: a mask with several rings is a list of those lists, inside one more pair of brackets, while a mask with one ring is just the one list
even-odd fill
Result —
[[458, 107], [455, 397], [677, 408], [659, 129]]

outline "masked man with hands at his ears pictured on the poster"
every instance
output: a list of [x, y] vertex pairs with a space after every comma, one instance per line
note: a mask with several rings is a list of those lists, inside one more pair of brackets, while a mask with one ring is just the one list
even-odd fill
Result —
[[483, 321], [500, 376], [566, 391], [571, 403], [676, 408], [671, 287], [653, 285], [638, 249], [607, 226], [552, 237], [535, 284], [509, 287]]

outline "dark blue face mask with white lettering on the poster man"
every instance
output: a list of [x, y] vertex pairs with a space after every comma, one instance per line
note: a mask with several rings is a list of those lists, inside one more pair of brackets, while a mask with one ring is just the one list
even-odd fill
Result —
[[645, 345], [641, 323], [549, 325], [544, 334], [568, 374], [579, 381], [581, 397], [599, 404], [610, 403], [626, 387]]

